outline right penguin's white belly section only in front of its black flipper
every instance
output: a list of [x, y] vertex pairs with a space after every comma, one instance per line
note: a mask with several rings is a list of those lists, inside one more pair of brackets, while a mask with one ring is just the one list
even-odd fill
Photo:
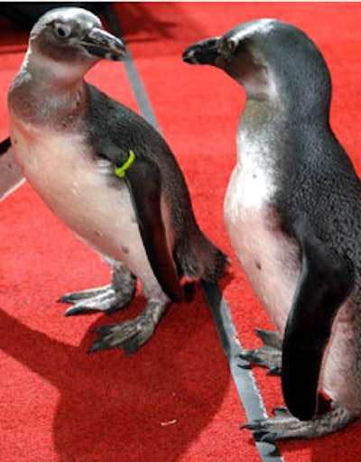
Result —
[[268, 205], [274, 190], [264, 171], [237, 165], [227, 188], [225, 219], [245, 274], [282, 334], [300, 273], [300, 256]]

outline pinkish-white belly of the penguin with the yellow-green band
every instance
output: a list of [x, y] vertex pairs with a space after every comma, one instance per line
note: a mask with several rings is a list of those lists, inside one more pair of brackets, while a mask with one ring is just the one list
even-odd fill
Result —
[[154, 280], [129, 191], [124, 182], [109, 185], [110, 162], [92, 158], [80, 135], [42, 133], [15, 121], [11, 136], [24, 177], [55, 215], [99, 253]]

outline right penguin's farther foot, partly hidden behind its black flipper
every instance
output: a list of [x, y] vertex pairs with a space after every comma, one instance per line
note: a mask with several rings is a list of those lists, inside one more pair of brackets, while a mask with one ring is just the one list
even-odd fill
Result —
[[[256, 329], [255, 332], [263, 341], [264, 346], [253, 350], [244, 349], [239, 354], [240, 358], [255, 365], [267, 367], [268, 375], [281, 375], [282, 337], [271, 330]], [[247, 366], [249, 365], [243, 365], [243, 367]]]

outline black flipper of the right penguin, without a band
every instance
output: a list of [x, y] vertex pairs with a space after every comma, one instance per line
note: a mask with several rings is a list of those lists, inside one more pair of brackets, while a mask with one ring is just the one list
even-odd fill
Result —
[[282, 392], [300, 420], [318, 411], [319, 372], [333, 320], [347, 299], [353, 267], [312, 234], [304, 220], [294, 225], [301, 245], [301, 274], [282, 345]]

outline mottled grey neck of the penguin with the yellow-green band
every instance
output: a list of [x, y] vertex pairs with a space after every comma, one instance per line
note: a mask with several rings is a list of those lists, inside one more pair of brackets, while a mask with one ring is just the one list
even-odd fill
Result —
[[74, 119], [87, 102], [84, 72], [84, 65], [52, 63], [29, 50], [9, 90], [9, 106], [23, 122], [69, 125], [64, 120]]

